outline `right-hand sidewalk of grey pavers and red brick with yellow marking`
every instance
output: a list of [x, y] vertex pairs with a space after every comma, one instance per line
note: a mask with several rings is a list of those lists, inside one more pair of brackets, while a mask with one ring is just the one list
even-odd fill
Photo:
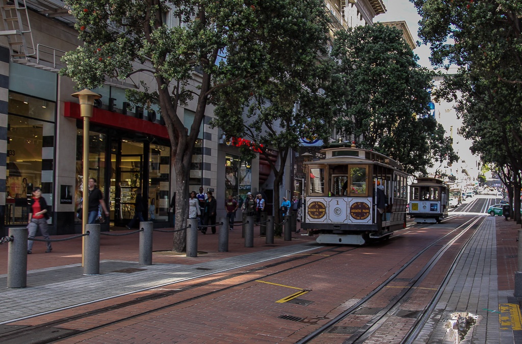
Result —
[[[458, 260], [418, 342], [522, 343], [522, 299], [513, 296], [518, 229], [520, 225], [504, 217], [484, 219]], [[464, 330], [456, 328], [459, 316], [468, 319]]]

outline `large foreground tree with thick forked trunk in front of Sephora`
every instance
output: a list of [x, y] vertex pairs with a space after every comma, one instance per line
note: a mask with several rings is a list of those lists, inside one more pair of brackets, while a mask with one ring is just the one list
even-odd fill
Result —
[[[324, 34], [322, 0], [65, 2], [84, 44], [66, 54], [63, 75], [80, 89], [96, 88], [106, 78], [145, 75], [132, 99], [158, 104], [167, 127], [178, 230], [186, 226], [192, 155], [207, 104], [224, 87], [269, 80], [292, 68]], [[189, 101], [196, 104], [195, 115], [185, 128], [179, 114]], [[184, 231], [176, 232], [173, 250], [184, 247]]]

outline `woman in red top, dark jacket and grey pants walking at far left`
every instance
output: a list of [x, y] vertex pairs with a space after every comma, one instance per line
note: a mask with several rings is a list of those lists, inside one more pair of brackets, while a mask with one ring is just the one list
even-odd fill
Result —
[[[47, 219], [49, 219], [49, 215], [47, 213], [47, 203], [45, 198], [42, 197], [42, 189], [37, 186], [33, 189], [33, 196], [31, 200], [29, 200], [29, 205], [27, 207], [27, 212], [29, 213], [29, 220], [27, 222], [27, 230], [29, 234], [27, 235], [27, 239], [33, 239], [36, 235], [37, 230], [40, 228], [40, 232], [42, 232], [43, 239], [49, 240], [49, 230], [47, 226]], [[27, 241], [27, 254], [32, 253], [32, 245], [34, 241]], [[53, 251], [53, 247], [51, 246], [51, 242], [47, 242], [47, 250], [45, 253], [50, 253]]]

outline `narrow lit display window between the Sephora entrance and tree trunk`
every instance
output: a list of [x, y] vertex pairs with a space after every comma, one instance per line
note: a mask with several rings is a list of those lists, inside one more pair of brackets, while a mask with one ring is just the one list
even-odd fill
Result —
[[148, 217], [150, 221], [168, 221], [170, 148], [151, 145], [149, 157]]

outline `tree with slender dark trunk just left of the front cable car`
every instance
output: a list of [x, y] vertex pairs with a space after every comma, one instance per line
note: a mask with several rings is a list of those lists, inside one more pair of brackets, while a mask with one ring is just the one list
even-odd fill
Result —
[[[285, 167], [292, 151], [299, 149], [301, 138], [315, 137], [328, 141], [333, 122], [323, 87], [329, 81], [332, 63], [327, 54], [327, 26], [317, 41], [301, 50], [296, 65], [281, 66], [280, 73], [269, 80], [253, 78], [223, 88], [216, 97], [216, 118], [212, 125], [222, 128], [226, 136], [243, 137], [264, 155], [274, 173], [275, 222], [281, 223], [280, 189]], [[323, 56], [323, 57], [320, 57]], [[278, 160], [269, 151], [276, 151]], [[253, 157], [250, 147], [243, 147], [242, 157]], [[276, 228], [280, 234], [280, 228]]]

